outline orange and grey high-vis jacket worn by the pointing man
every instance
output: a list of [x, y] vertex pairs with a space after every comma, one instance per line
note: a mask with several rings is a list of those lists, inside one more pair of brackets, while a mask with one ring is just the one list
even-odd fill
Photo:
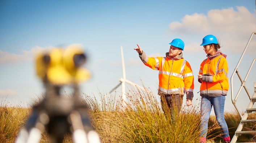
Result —
[[184, 95], [193, 98], [194, 76], [190, 64], [182, 58], [182, 53], [177, 58], [147, 57], [146, 53], [139, 54], [142, 62], [152, 68], [159, 70], [159, 95]]

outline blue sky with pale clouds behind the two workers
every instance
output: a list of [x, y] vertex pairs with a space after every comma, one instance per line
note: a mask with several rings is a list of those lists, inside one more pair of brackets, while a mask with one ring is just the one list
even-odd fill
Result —
[[[164, 56], [174, 38], [185, 42], [184, 58], [197, 77], [206, 55], [202, 38], [216, 35], [227, 54], [231, 76], [253, 31], [256, 31], [254, 0], [221, 1], [0, 1], [0, 97], [12, 104], [32, 102], [43, 91], [35, 76], [33, 52], [51, 46], [80, 43], [89, 60], [86, 65], [92, 78], [81, 85], [81, 91], [98, 96], [108, 92], [122, 76], [120, 46], [123, 46], [127, 79], [155, 93], [158, 71], [143, 65], [133, 48], [138, 43], [151, 56]], [[255, 58], [254, 37], [239, 68], [244, 77]], [[254, 49], [253, 49], [254, 48]], [[253, 91], [256, 69], [247, 81]], [[234, 79], [235, 93], [240, 83]], [[194, 99], [199, 98], [195, 80]], [[246, 108], [249, 100], [243, 90], [238, 106]], [[226, 111], [233, 109], [230, 91]]]

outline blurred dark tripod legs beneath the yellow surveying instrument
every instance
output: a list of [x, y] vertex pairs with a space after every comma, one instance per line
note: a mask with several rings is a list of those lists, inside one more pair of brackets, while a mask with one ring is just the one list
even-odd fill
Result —
[[71, 98], [61, 97], [62, 86], [48, 83], [45, 87], [45, 98], [33, 107], [16, 143], [39, 143], [43, 131], [48, 133], [50, 143], [61, 143], [67, 133], [72, 134], [75, 143], [100, 143], [98, 134], [92, 130], [88, 108], [80, 100], [78, 86], [74, 85]]

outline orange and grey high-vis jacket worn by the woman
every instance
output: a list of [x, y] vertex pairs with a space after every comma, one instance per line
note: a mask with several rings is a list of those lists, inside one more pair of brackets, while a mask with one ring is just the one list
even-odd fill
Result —
[[228, 91], [228, 66], [225, 54], [217, 51], [215, 55], [207, 55], [207, 59], [203, 60], [200, 65], [199, 74], [203, 75], [201, 83], [200, 95], [209, 97], [218, 97], [227, 95]]

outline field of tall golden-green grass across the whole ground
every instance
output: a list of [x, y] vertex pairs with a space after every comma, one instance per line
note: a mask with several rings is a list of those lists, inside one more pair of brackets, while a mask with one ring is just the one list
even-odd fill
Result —
[[[200, 104], [182, 107], [180, 113], [175, 113], [172, 122], [169, 112], [161, 110], [158, 95], [152, 92], [129, 91], [126, 109], [123, 110], [118, 95], [101, 99], [83, 94], [82, 101], [90, 108], [92, 125], [99, 133], [102, 143], [198, 143], [200, 138]], [[39, 99], [35, 102], [38, 103]], [[11, 143], [18, 131], [25, 124], [32, 108], [9, 107], [1, 103], [0, 107], [0, 142]], [[256, 114], [249, 116], [255, 118]], [[225, 119], [232, 138], [239, 124], [237, 113], [225, 113]], [[245, 125], [255, 130], [255, 124]], [[207, 143], [220, 143], [221, 130], [214, 116], [210, 117]], [[253, 135], [239, 137], [239, 142], [254, 141]], [[42, 135], [41, 142], [47, 142], [47, 134]], [[67, 135], [65, 143], [71, 142]]]

